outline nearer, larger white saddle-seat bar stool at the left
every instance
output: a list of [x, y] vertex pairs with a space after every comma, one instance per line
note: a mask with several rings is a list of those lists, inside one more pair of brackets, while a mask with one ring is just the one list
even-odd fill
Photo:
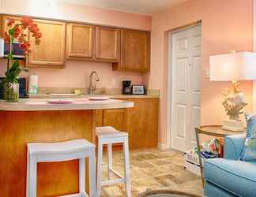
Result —
[[89, 160], [89, 194], [96, 196], [95, 145], [85, 139], [73, 139], [61, 143], [28, 143], [27, 197], [36, 197], [36, 167], [38, 162], [62, 162], [79, 159], [79, 193], [65, 195], [88, 196], [85, 192], [85, 157]]

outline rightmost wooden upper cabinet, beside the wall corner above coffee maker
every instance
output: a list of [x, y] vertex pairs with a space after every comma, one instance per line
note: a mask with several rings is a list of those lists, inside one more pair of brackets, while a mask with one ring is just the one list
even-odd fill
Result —
[[121, 61], [113, 69], [149, 72], [150, 32], [122, 29]]

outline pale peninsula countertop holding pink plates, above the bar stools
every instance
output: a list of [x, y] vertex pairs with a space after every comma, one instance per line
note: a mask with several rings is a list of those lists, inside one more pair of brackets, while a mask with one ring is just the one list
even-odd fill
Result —
[[[70, 104], [51, 104], [51, 100], [69, 100]], [[47, 111], [47, 110], [104, 110], [134, 107], [134, 102], [109, 99], [106, 101], [90, 101], [79, 99], [20, 99], [19, 102], [0, 100], [1, 111]]]

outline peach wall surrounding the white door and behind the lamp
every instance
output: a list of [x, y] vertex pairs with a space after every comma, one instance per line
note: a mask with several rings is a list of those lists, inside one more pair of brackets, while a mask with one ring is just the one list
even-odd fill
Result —
[[[210, 82], [205, 76], [209, 56], [230, 50], [253, 50], [253, 0], [193, 0], [152, 16], [151, 72], [143, 80], [149, 88], [160, 88], [160, 143], [167, 144], [167, 71], [166, 31], [202, 21], [202, 95], [201, 125], [221, 124], [222, 90], [229, 83]], [[247, 95], [247, 111], [252, 110], [252, 82], [241, 83]]]

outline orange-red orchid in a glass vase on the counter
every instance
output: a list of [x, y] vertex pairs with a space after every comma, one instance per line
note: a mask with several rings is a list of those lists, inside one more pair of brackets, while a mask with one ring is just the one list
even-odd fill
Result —
[[7, 69], [6, 78], [3, 80], [4, 99], [7, 102], [17, 102], [19, 100], [19, 83], [18, 76], [21, 71], [28, 71], [20, 66], [18, 60], [13, 60], [13, 41], [17, 39], [20, 43], [21, 49], [24, 51], [24, 55], [27, 58], [30, 50], [30, 43], [28, 41], [28, 35], [24, 32], [28, 30], [28, 33], [32, 34], [35, 38], [36, 45], [40, 44], [42, 33], [30, 17], [21, 17], [21, 20], [15, 21], [11, 18], [8, 19], [7, 31], [4, 35], [5, 43], [9, 43], [9, 54], [7, 55]]

